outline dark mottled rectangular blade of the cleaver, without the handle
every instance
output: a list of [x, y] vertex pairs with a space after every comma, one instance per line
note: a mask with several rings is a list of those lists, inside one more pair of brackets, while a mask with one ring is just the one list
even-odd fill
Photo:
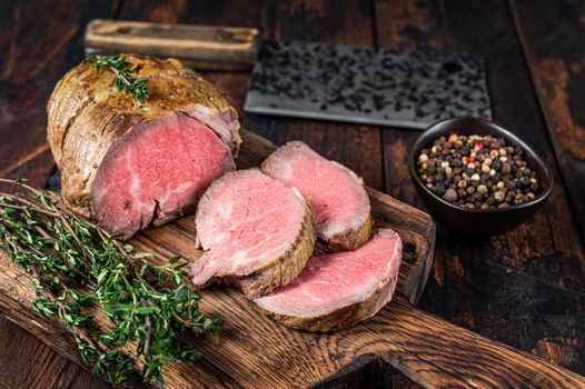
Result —
[[413, 129], [492, 119], [479, 57], [308, 42], [264, 42], [244, 110]]

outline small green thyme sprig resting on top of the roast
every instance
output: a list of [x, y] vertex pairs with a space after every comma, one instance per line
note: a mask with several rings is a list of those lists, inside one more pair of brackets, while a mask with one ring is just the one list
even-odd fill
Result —
[[150, 96], [150, 89], [146, 78], [135, 79], [128, 67], [130, 62], [122, 56], [96, 56], [86, 57], [86, 62], [96, 63], [96, 72], [99, 73], [101, 68], [109, 68], [116, 74], [113, 87], [116, 90], [122, 90], [126, 94], [133, 93], [136, 99], [142, 103]]

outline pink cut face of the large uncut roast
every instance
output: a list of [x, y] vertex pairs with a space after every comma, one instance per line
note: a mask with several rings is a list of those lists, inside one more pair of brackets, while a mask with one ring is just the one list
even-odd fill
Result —
[[171, 114], [112, 146], [93, 181], [91, 206], [108, 231], [129, 237], [192, 210], [211, 181], [235, 168], [229, 147], [211, 129]]

